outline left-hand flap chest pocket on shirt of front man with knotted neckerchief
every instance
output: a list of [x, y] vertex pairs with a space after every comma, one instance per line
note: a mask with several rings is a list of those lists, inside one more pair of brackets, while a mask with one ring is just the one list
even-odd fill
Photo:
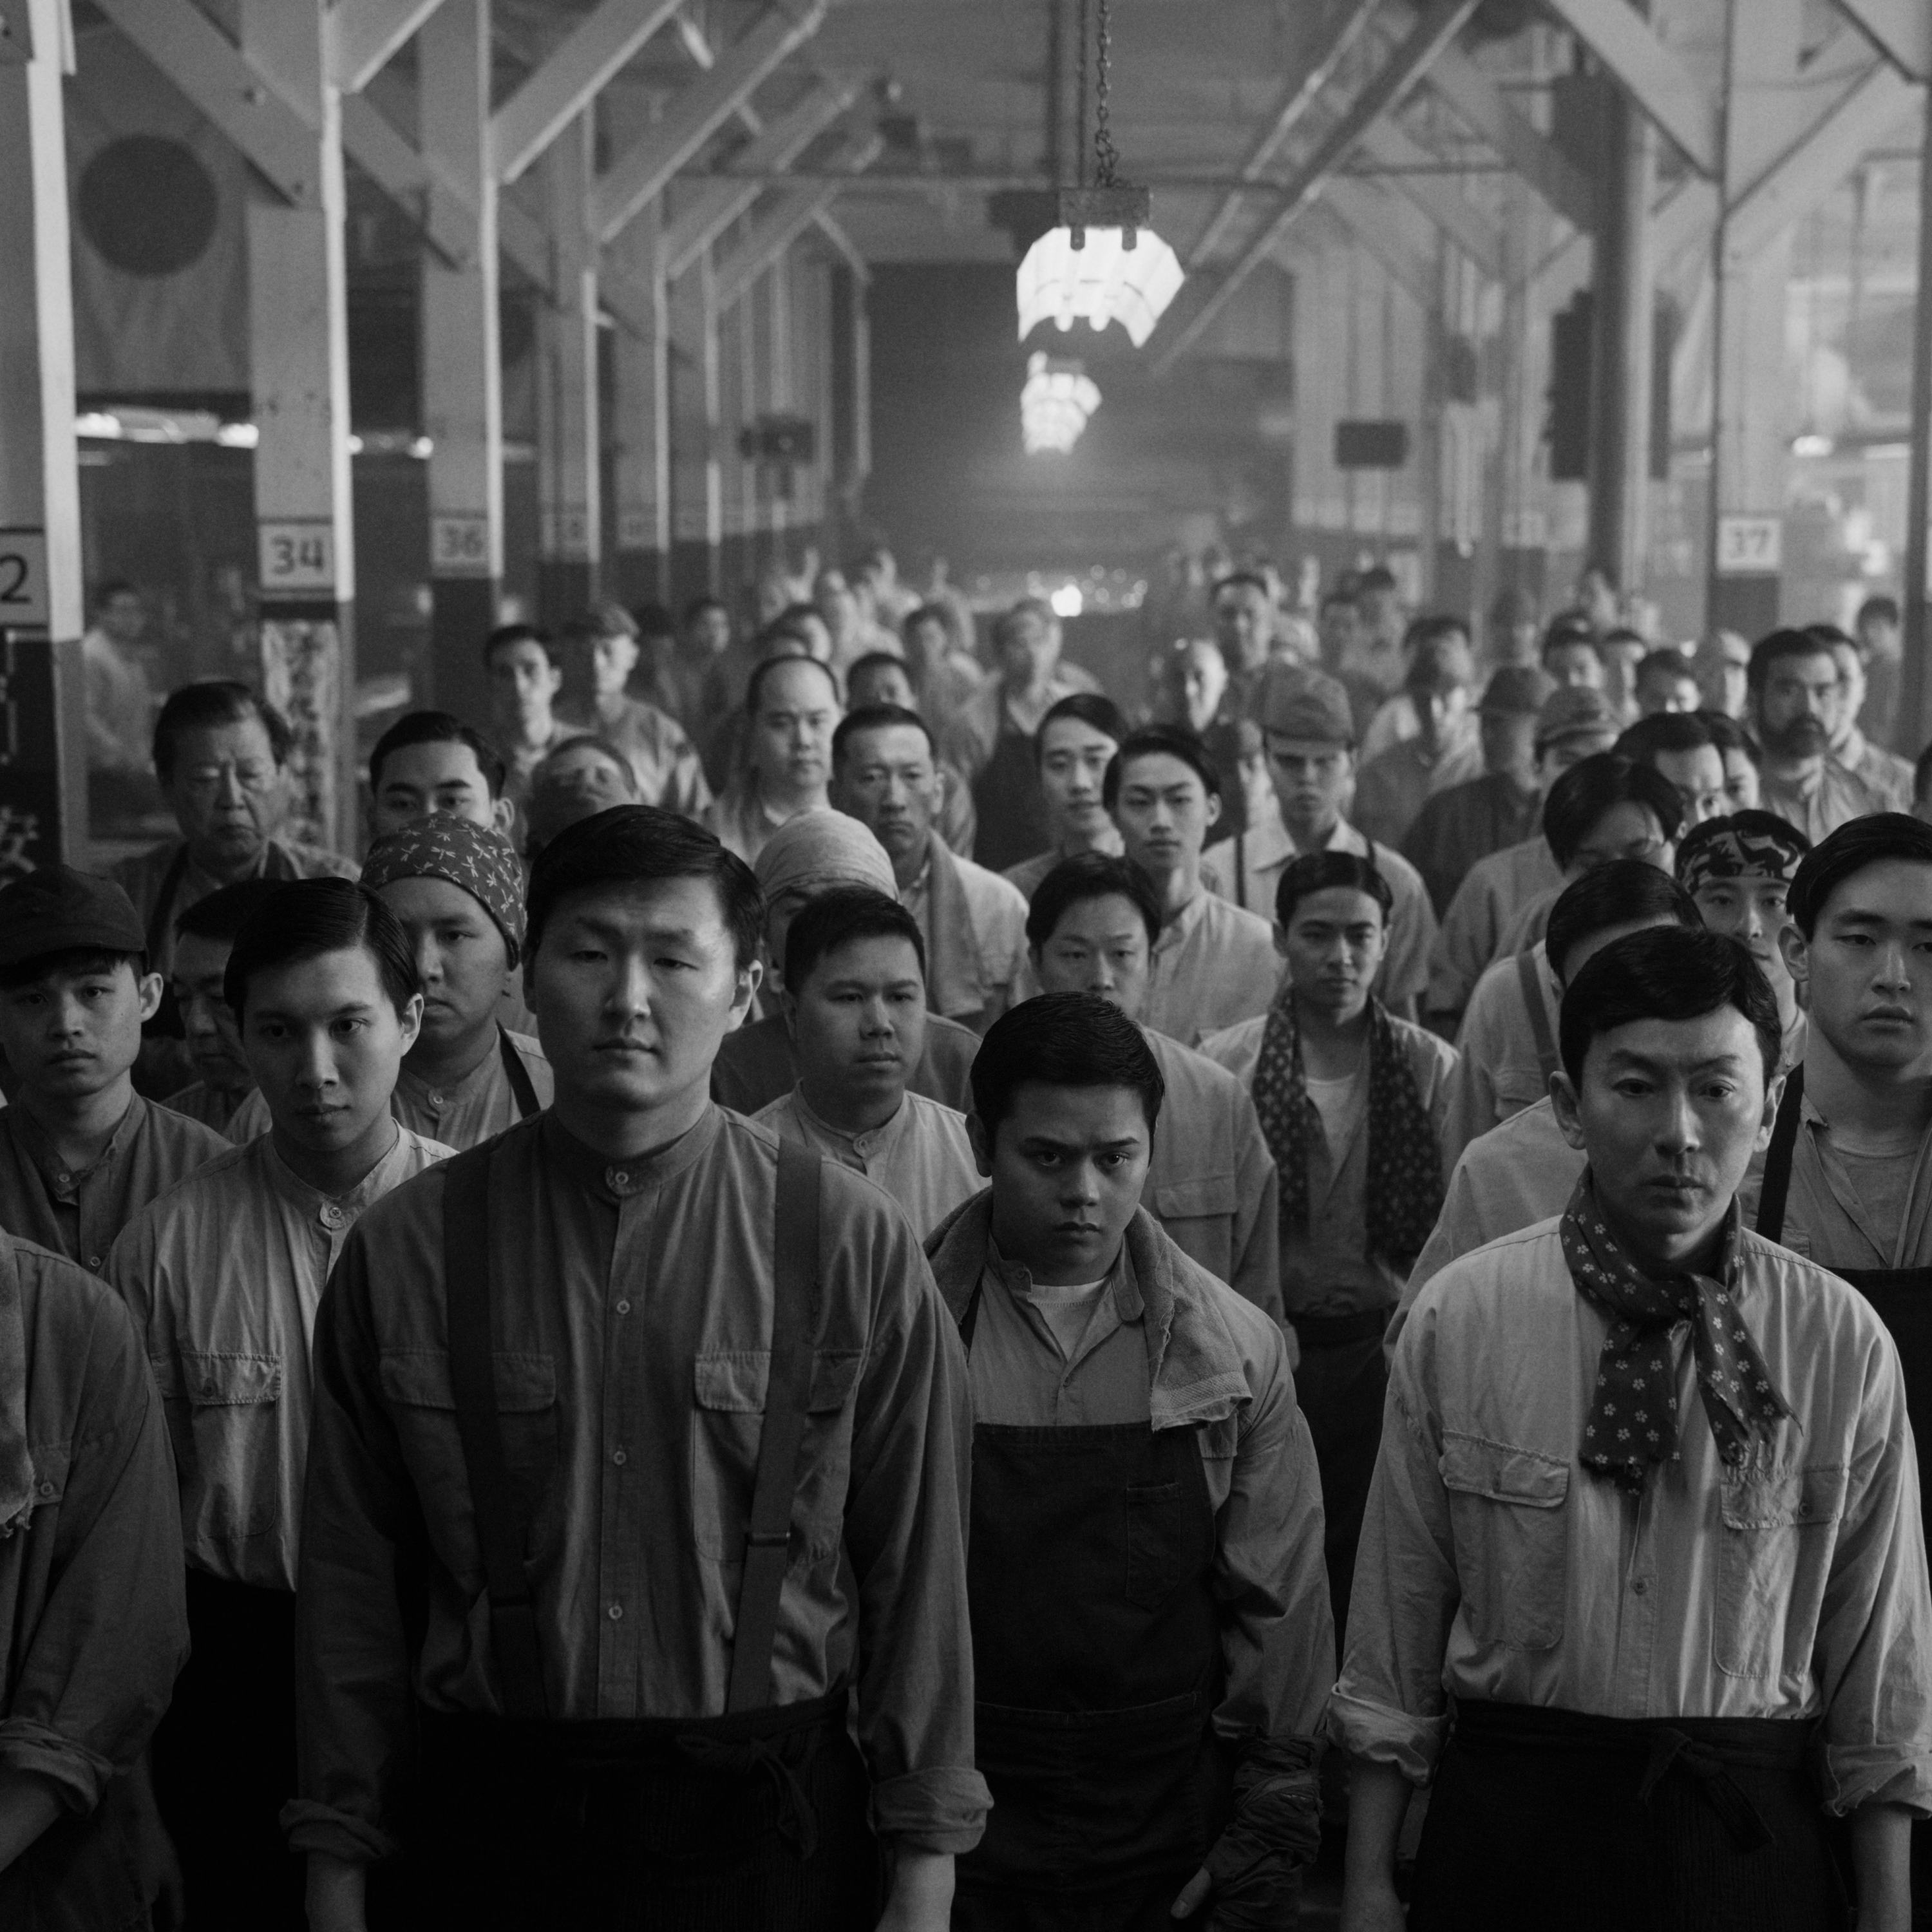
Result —
[[1470, 1633], [1507, 1650], [1553, 1650], [1569, 1582], [1569, 1463], [1445, 1435], [1439, 1468]]

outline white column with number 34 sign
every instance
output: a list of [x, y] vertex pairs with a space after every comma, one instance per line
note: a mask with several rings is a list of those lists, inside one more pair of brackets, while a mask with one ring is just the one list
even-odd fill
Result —
[[288, 829], [355, 840], [355, 547], [340, 97], [321, 0], [242, 0], [242, 50], [315, 128], [294, 203], [247, 207], [263, 688], [296, 726]]

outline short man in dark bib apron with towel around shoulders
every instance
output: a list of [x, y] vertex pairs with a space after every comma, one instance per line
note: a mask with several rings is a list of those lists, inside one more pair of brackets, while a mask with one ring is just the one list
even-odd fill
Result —
[[1275, 1323], [1136, 1206], [1161, 1099], [1107, 1001], [1016, 1007], [974, 1065], [989, 1186], [927, 1242], [970, 1364], [993, 1793], [956, 1932], [1289, 1924], [1320, 1837], [1308, 1426]]

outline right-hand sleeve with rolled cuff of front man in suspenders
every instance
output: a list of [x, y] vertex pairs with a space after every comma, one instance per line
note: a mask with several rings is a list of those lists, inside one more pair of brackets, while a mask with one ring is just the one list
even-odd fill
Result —
[[860, 1748], [873, 1830], [962, 1853], [993, 1803], [974, 1768], [966, 1352], [902, 1219], [877, 1265], [893, 1287], [866, 1354], [844, 1520], [860, 1590]]

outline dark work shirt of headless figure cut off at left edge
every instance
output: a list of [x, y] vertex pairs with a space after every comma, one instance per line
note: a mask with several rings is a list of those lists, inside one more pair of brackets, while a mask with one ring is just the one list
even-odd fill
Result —
[[147, 1748], [187, 1662], [174, 1468], [120, 1298], [6, 1235], [0, 1412], [25, 1437], [6, 1507], [33, 1509], [0, 1536], [0, 1770], [91, 1812]]

